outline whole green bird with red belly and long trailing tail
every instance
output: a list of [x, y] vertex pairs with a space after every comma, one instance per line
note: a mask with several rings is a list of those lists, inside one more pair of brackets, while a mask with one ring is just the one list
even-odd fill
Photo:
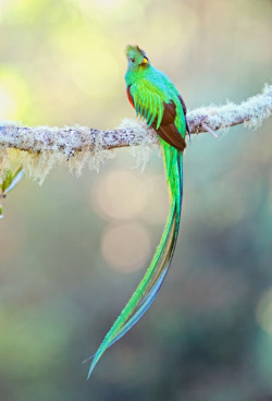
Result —
[[144, 278], [97, 352], [89, 357], [94, 360], [88, 378], [104, 351], [140, 319], [156, 299], [174, 254], [182, 211], [183, 151], [186, 132], [189, 134], [185, 104], [170, 78], [150, 64], [138, 46], [127, 46], [126, 58], [127, 97], [136, 114], [159, 134], [171, 208], [160, 244]]

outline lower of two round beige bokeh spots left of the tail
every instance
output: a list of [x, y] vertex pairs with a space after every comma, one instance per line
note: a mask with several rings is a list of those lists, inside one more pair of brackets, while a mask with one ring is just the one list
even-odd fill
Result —
[[118, 271], [139, 270], [147, 263], [151, 246], [147, 229], [138, 223], [110, 227], [102, 236], [102, 254]]

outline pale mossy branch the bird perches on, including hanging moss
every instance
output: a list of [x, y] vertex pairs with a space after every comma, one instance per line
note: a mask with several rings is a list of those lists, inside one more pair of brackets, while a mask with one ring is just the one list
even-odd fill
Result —
[[[222, 129], [225, 131], [242, 123], [247, 127], [257, 129], [271, 113], [272, 85], [265, 85], [261, 94], [240, 105], [227, 102], [224, 106], [202, 107], [189, 111], [187, 119], [191, 134], [199, 134]], [[153, 130], [132, 120], [124, 120], [114, 130], [95, 130], [81, 125], [62, 129], [28, 127], [0, 120], [0, 170], [1, 161], [2, 169], [7, 167], [7, 149], [27, 153], [24, 169], [29, 175], [42, 181], [55, 162], [63, 162], [65, 159], [70, 159], [70, 167], [76, 168], [77, 171], [87, 159], [90, 167], [98, 168], [99, 162], [110, 156], [110, 149], [135, 145], [150, 148], [157, 143]], [[77, 165], [72, 159], [76, 160]], [[36, 172], [33, 169], [36, 169]]]

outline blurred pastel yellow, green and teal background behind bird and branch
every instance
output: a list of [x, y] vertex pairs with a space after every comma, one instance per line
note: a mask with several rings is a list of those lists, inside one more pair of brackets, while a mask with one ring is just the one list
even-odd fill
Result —
[[[114, 127], [135, 118], [138, 44], [189, 109], [271, 83], [269, 0], [0, 0], [0, 118]], [[143, 320], [86, 381], [168, 214], [162, 160], [119, 149], [100, 173], [24, 179], [0, 223], [3, 401], [272, 400], [271, 134], [194, 135], [171, 271]]]

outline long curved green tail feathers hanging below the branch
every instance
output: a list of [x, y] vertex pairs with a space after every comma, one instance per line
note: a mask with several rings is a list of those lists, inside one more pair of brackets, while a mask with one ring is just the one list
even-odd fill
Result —
[[[171, 200], [170, 214], [160, 244], [156, 250], [149, 268], [120, 316], [104, 337], [97, 352], [92, 355], [94, 360], [89, 368], [88, 378], [104, 351], [123, 337], [149, 308], [161, 288], [173, 257], [182, 207], [183, 155], [164, 141], [161, 141], [161, 145]], [[90, 356], [90, 359], [92, 356]]]

